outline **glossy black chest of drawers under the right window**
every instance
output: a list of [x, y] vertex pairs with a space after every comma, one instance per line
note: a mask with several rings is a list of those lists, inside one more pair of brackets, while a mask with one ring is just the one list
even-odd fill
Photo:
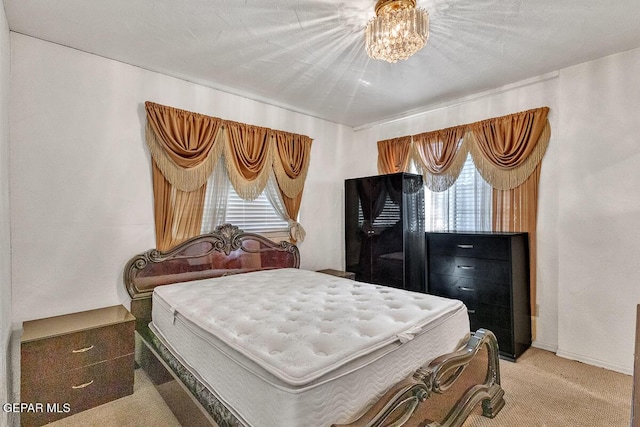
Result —
[[527, 233], [426, 233], [428, 292], [462, 300], [471, 330], [489, 329], [500, 355], [531, 346]]

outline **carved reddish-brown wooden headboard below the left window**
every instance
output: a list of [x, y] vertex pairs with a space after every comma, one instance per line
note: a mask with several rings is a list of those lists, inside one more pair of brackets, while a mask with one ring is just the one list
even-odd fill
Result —
[[166, 252], [150, 249], [134, 256], [124, 268], [123, 279], [136, 329], [142, 331], [151, 321], [151, 295], [156, 286], [299, 266], [297, 246], [223, 224]]

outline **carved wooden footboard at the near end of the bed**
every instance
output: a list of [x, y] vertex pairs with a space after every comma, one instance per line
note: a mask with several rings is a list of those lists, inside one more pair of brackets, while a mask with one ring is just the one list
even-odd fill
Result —
[[[479, 372], [484, 374], [484, 381], [474, 380]], [[438, 405], [436, 395], [447, 393], [460, 397], [453, 400], [453, 406]], [[491, 331], [480, 329], [464, 349], [433, 360], [396, 384], [356, 421], [334, 427], [455, 427], [462, 425], [480, 402], [482, 414], [495, 417], [504, 406], [503, 396], [496, 337]], [[447, 400], [452, 401], [452, 397]]]

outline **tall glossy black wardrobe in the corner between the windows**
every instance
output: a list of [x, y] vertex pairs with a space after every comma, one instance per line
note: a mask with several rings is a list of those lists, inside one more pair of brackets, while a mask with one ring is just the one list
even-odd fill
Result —
[[422, 176], [345, 180], [345, 240], [356, 280], [426, 292]]

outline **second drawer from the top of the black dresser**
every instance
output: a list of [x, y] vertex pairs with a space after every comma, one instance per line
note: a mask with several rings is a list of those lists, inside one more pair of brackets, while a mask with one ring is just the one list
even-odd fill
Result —
[[429, 272], [496, 283], [511, 283], [511, 264], [494, 259], [433, 255], [429, 259]]

